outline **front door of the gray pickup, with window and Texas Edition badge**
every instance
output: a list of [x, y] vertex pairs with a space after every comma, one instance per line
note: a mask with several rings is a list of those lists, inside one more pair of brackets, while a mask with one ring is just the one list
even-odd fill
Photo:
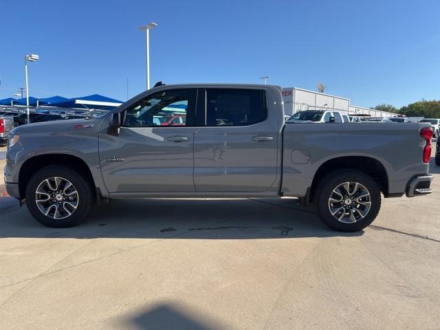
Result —
[[[194, 112], [197, 89], [165, 89], [121, 113], [118, 136], [100, 133], [100, 164], [111, 195], [195, 192]], [[167, 124], [179, 115], [180, 124]]]

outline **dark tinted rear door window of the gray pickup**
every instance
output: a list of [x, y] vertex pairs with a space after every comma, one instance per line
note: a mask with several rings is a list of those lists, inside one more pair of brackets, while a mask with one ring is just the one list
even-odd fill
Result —
[[206, 89], [206, 126], [246, 126], [266, 118], [265, 91]]

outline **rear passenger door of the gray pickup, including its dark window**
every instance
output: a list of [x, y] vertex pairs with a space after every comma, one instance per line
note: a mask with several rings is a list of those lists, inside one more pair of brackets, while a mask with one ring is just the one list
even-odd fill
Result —
[[199, 89], [194, 149], [197, 192], [270, 190], [277, 177], [278, 133], [265, 89]]

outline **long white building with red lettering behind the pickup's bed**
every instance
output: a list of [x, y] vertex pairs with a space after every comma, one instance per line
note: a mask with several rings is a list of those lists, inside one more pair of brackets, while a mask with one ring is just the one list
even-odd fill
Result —
[[293, 115], [298, 111], [305, 110], [338, 110], [349, 115], [371, 115], [371, 117], [393, 117], [396, 115], [391, 112], [351, 105], [349, 98], [296, 87], [283, 88], [283, 100], [286, 115]]

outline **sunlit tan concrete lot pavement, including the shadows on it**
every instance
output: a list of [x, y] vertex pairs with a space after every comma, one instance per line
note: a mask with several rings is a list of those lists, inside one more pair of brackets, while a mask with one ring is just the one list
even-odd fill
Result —
[[1, 197], [0, 329], [440, 329], [430, 172], [350, 234], [296, 199], [118, 200], [54, 229]]

